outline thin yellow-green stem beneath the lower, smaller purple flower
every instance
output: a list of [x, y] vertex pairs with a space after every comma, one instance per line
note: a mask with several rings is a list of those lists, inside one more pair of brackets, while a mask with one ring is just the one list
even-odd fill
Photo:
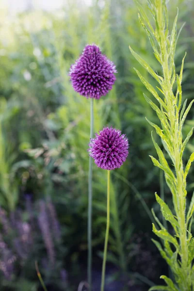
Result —
[[107, 171], [107, 225], [106, 225], [106, 235], [104, 242], [104, 255], [103, 255], [103, 264], [102, 264], [102, 278], [101, 278], [101, 289], [104, 291], [105, 283], [105, 273], [106, 273], [106, 258], [107, 258], [107, 246], [109, 240], [109, 227], [110, 227], [110, 171]]

